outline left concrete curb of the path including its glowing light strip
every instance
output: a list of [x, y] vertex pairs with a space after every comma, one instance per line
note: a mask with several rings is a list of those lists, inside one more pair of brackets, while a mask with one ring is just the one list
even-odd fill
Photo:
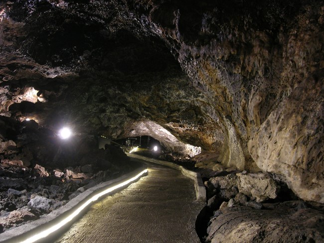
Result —
[[121, 187], [130, 185], [148, 173], [141, 168], [120, 178], [96, 185], [70, 200], [63, 207], [51, 212], [44, 218], [6, 231], [0, 236], [1, 243], [33, 243], [42, 240], [72, 222], [88, 205], [100, 197]]

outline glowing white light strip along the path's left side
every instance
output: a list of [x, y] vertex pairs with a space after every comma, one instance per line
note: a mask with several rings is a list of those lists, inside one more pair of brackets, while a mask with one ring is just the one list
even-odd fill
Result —
[[139, 173], [138, 175], [134, 176], [133, 178], [127, 180], [127, 181], [124, 181], [116, 186], [113, 186], [113, 187], [110, 187], [96, 195], [94, 195], [93, 197], [91, 197], [89, 200], [87, 200], [84, 204], [82, 204], [79, 208], [77, 208], [72, 214], [70, 214], [69, 216], [67, 216], [65, 219], [61, 220], [59, 223], [57, 223], [56, 225], [48, 228], [47, 230], [44, 230], [30, 238], [28, 238], [27, 240], [25, 241], [22, 241], [21, 243], [33, 243], [33, 242], [36, 242], [42, 238], [45, 238], [47, 237], [49, 234], [57, 231], [58, 229], [60, 229], [62, 226], [64, 226], [65, 224], [69, 223], [73, 218], [75, 218], [85, 207], [87, 207], [90, 203], [98, 200], [98, 198], [100, 198], [101, 196], [109, 193], [109, 192], [112, 192], [112, 191], [115, 191], [116, 189], [120, 188], [120, 187], [123, 187], [123, 186], [126, 186], [127, 184], [131, 183], [132, 181], [135, 181], [136, 179], [138, 179], [140, 176], [142, 176], [143, 174], [147, 173], [148, 170], [145, 169], [143, 170], [141, 173]]

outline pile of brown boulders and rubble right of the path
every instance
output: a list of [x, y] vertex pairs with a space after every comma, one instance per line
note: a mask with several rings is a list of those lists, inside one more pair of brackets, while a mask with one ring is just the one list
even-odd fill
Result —
[[230, 173], [205, 181], [206, 243], [323, 242], [324, 208], [298, 200], [265, 173]]

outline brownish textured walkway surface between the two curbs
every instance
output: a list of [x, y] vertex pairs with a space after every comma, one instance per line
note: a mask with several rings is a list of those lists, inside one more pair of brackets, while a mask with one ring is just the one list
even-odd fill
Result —
[[149, 174], [91, 206], [57, 243], [199, 243], [193, 181], [149, 164]]

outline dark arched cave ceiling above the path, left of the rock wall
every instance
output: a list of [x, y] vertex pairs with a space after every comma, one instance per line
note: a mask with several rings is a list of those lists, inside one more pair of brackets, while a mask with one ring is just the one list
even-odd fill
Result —
[[122, 6], [18, 1], [7, 7], [1, 85], [12, 96], [30, 86], [45, 98], [31, 105], [20, 97], [2, 112], [26, 111], [23, 116], [53, 129], [66, 123], [113, 138], [129, 136], [134, 121], [154, 121], [184, 142], [194, 136], [195, 145], [211, 148], [199, 139], [203, 129], [220, 129], [214, 117], [203, 116], [211, 107], [165, 43]]

